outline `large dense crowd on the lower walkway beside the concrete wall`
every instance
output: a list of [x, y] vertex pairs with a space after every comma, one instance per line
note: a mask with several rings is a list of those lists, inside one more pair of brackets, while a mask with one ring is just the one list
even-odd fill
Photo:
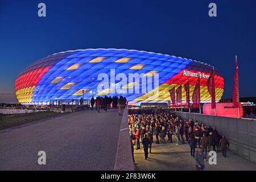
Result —
[[142, 143], [145, 159], [148, 158], [148, 148], [150, 153], [152, 152], [153, 143], [172, 143], [175, 142], [173, 138], [176, 139], [176, 145], [189, 144], [197, 170], [204, 170], [207, 152], [217, 152], [218, 146], [222, 149], [222, 155], [226, 157], [228, 140], [225, 136], [221, 136], [216, 128], [206, 126], [203, 122], [193, 121], [193, 119], [177, 117], [171, 110], [129, 110], [128, 124], [131, 148], [134, 150], [136, 146], [136, 150], [139, 150]]

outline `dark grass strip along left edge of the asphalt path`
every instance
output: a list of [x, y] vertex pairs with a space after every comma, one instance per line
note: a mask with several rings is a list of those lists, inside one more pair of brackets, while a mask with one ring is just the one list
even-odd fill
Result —
[[40, 119], [46, 119], [56, 115], [60, 115], [60, 113], [53, 113], [52, 111], [42, 111], [37, 113], [0, 115], [0, 130], [7, 129], [9, 127], [19, 126], [24, 123], [39, 121]]

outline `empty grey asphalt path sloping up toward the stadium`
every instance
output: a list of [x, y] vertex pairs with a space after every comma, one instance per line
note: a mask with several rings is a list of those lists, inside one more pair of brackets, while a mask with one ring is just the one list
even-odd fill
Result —
[[120, 123], [117, 109], [85, 110], [0, 133], [0, 170], [113, 170]]

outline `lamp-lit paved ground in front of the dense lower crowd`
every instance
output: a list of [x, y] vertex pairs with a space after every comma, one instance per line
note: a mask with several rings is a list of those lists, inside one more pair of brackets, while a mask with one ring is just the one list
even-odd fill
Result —
[[[155, 136], [154, 136], [155, 137]], [[148, 154], [149, 159], [144, 159], [143, 146], [140, 150], [135, 150], [134, 146], [134, 158], [137, 170], [161, 170], [161, 171], [194, 171], [195, 159], [191, 157], [190, 148], [188, 144], [181, 144], [179, 146], [176, 143], [166, 144], [152, 144], [152, 154]], [[148, 150], [149, 151], [149, 150]], [[209, 157], [208, 157], [209, 159]], [[234, 154], [233, 152], [227, 152], [227, 158], [222, 156], [221, 152], [217, 152], [217, 165], [210, 165], [208, 160], [205, 162], [205, 170], [256, 170], [256, 164], [253, 164], [241, 156]]]

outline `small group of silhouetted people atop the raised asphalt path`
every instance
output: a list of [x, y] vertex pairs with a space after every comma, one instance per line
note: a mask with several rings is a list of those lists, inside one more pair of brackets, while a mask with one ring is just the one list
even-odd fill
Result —
[[119, 115], [123, 114], [123, 108], [126, 106], [127, 100], [125, 97], [119, 96], [119, 98], [117, 96], [114, 96], [113, 98], [111, 96], [105, 96], [105, 97], [92, 97], [90, 99], [90, 106], [91, 109], [94, 109], [94, 105], [95, 105], [95, 110], [98, 111], [98, 113], [100, 113], [100, 109], [107, 111], [110, 108], [114, 108], [117, 109], [119, 111]]

